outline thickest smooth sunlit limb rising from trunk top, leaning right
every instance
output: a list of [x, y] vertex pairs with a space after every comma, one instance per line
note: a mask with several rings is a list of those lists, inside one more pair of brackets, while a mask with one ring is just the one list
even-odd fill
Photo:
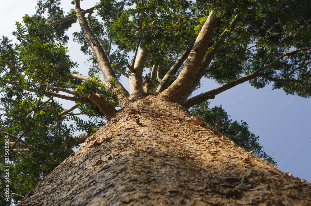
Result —
[[175, 103], [181, 103], [183, 97], [187, 95], [195, 76], [201, 68], [205, 53], [207, 52], [212, 34], [216, 27], [218, 18], [212, 10], [203, 25], [197, 39], [192, 47], [183, 70], [178, 78], [160, 96], [165, 97]]

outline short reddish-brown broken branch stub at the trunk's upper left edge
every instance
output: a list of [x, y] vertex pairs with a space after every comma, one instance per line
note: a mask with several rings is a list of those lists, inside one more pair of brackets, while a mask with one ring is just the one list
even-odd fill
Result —
[[95, 94], [91, 90], [89, 91], [89, 99], [93, 101], [100, 109], [100, 111], [107, 117], [108, 120], [113, 118], [117, 114], [117, 110], [113, 105], [108, 104], [104, 96]]

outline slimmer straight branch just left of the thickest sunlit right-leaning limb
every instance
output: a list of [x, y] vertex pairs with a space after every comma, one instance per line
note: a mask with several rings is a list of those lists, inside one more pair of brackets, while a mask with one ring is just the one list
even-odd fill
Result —
[[170, 76], [176, 74], [178, 69], [183, 65], [183, 62], [188, 58], [190, 54], [190, 49], [187, 48], [183, 54], [178, 58], [178, 60], [175, 62], [175, 64], [169, 69], [169, 71], [165, 74], [161, 82], [159, 83], [158, 87], [156, 88], [156, 93], [160, 93], [164, 91], [168, 86], [169, 83], [171, 83], [172, 79]]

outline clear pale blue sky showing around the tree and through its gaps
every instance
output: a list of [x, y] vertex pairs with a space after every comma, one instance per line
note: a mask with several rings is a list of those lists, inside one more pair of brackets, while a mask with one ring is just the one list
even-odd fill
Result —
[[[73, 8], [71, 0], [61, 2], [66, 13]], [[95, 0], [82, 1], [81, 8], [93, 7], [95, 3]], [[11, 35], [16, 28], [15, 21], [21, 22], [25, 14], [33, 15], [35, 6], [36, 0], [3, 1], [0, 6], [0, 36], [7, 36], [15, 42]], [[69, 29], [68, 34], [77, 29], [78, 23]], [[84, 61], [89, 57], [80, 52], [79, 45], [72, 38], [67, 46], [72, 60], [80, 64], [79, 72], [87, 75], [88, 66]], [[128, 88], [126, 78], [122, 78], [122, 83]], [[203, 79], [201, 83], [202, 87], [194, 95], [219, 86], [209, 79]], [[271, 88], [267, 86], [257, 90], [245, 82], [217, 95], [211, 100], [210, 108], [223, 105], [230, 119], [247, 122], [249, 131], [259, 135], [264, 151], [274, 157], [280, 170], [288, 170], [294, 177], [311, 181], [311, 99], [286, 95], [282, 90], [272, 91]], [[63, 107], [67, 109], [72, 105], [64, 102]]]

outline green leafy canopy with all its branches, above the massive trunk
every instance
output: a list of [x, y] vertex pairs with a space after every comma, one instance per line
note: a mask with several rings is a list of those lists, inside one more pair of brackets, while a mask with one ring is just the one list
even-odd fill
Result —
[[[38, 0], [36, 14], [16, 22], [17, 42], [0, 40], [0, 151], [10, 150], [2, 161], [14, 168], [12, 193], [26, 195], [72, 154], [87, 137], [74, 131], [91, 135], [146, 94], [192, 108], [193, 116], [275, 164], [246, 122], [230, 120], [221, 106], [208, 109], [207, 101], [246, 81], [310, 97], [308, 1], [101, 0], [90, 8], [72, 3], [74, 9], [63, 11], [59, 0]], [[66, 47], [66, 31], [77, 22], [81, 30], [73, 39], [92, 62], [88, 76], [79, 74]], [[129, 78], [130, 92], [121, 75]], [[222, 86], [189, 98], [202, 77]], [[63, 108], [57, 98], [72, 107]]]

